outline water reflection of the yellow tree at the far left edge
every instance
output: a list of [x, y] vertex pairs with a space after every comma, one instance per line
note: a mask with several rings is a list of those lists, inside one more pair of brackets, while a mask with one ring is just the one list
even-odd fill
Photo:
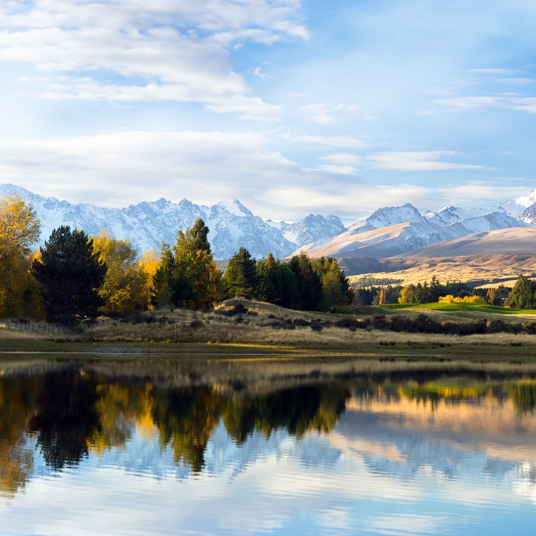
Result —
[[36, 378], [0, 380], [0, 494], [14, 494], [28, 481], [33, 452], [24, 446], [25, 431], [39, 389]]

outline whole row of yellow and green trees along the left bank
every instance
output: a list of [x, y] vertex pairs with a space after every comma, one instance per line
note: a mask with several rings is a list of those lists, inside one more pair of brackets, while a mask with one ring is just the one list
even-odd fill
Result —
[[331, 258], [302, 253], [288, 262], [272, 254], [255, 260], [247, 249], [218, 269], [198, 219], [177, 232], [160, 253], [138, 252], [130, 240], [106, 231], [90, 237], [59, 226], [32, 252], [40, 222], [31, 204], [13, 194], [0, 198], [0, 317], [44, 316], [71, 323], [79, 317], [124, 314], [159, 306], [207, 308], [240, 294], [291, 309], [321, 310], [353, 299], [344, 272]]

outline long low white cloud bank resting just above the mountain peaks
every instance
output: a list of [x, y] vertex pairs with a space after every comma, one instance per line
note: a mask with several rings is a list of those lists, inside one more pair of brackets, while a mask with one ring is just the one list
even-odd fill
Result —
[[297, 221], [311, 212], [333, 213], [347, 225], [382, 206], [410, 202], [422, 212], [446, 205], [486, 207], [528, 190], [517, 185], [525, 184], [523, 179], [504, 179], [497, 187], [487, 182], [367, 184], [355, 175], [360, 163], [355, 155], [332, 154], [324, 157], [325, 166], [308, 170], [267, 151], [267, 141], [253, 132], [161, 129], [47, 141], [0, 138], [0, 177], [71, 203], [123, 207], [186, 197], [211, 205], [236, 197], [266, 219]]

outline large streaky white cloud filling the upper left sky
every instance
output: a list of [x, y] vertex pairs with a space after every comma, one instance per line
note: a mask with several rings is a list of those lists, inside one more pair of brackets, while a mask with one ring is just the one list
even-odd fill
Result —
[[[299, 10], [294, 0], [13, 2], [0, 8], [0, 61], [50, 73], [56, 91], [37, 79], [29, 88], [44, 98], [192, 101], [244, 118], [271, 119], [279, 110], [248, 96], [227, 47], [236, 41], [308, 39], [296, 24]], [[75, 80], [84, 73], [89, 80], [65, 84], [57, 73]]]

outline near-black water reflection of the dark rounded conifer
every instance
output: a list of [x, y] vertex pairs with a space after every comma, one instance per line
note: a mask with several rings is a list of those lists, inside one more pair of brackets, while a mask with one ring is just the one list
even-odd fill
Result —
[[76, 370], [47, 373], [28, 429], [38, 434], [47, 465], [59, 469], [87, 455], [88, 439], [100, 429], [96, 380]]

